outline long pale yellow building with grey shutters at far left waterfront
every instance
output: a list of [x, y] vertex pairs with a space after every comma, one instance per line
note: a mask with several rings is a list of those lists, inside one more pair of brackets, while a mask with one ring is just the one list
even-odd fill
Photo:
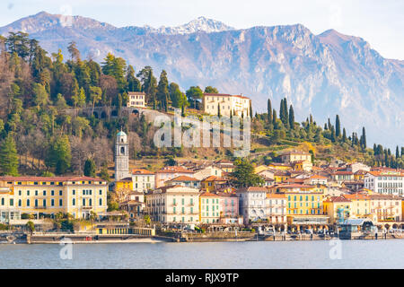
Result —
[[0, 214], [69, 213], [88, 218], [107, 211], [107, 182], [89, 177], [0, 177]]

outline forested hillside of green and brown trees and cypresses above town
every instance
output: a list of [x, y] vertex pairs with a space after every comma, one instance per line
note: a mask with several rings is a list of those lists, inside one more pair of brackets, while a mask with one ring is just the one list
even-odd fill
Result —
[[[108, 178], [113, 142], [120, 128], [128, 133], [131, 159], [189, 154], [194, 158], [206, 157], [195, 150], [155, 148], [152, 124], [145, 117], [120, 113], [127, 103], [128, 91], [144, 91], [150, 109], [167, 112], [176, 107], [185, 113], [189, 107], [187, 112], [200, 114], [202, 89], [193, 86], [180, 91], [164, 70], [158, 79], [150, 66], [136, 73], [132, 65], [112, 54], [106, 55], [101, 64], [91, 58], [83, 59], [75, 42], [69, 44], [68, 51], [69, 55], [62, 55], [60, 49], [48, 54], [37, 40], [23, 32], [0, 37], [2, 174], [82, 174], [85, 170], [89, 175], [99, 171], [101, 177]], [[208, 86], [205, 92], [217, 90]], [[117, 110], [118, 117], [85, 117], [81, 113], [81, 109], [98, 106]], [[295, 123], [294, 109], [286, 100], [282, 100], [279, 117], [268, 100], [268, 112], [256, 114], [252, 126], [252, 155], [257, 161], [268, 156], [268, 150], [309, 142], [318, 145], [323, 154], [329, 149], [330, 156], [342, 149], [362, 154], [369, 164], [403, 167], [403, 148], [397, 146], [395, 153], [382, 145], [366, 149], [365, 130], [360, 136], [348, 134], [338, 116], [335, 125], [329, 121], [324, 128], [312, 116], [302, 124]], [[215, 158], [230, 155], [219, 149], [213, 152]]]

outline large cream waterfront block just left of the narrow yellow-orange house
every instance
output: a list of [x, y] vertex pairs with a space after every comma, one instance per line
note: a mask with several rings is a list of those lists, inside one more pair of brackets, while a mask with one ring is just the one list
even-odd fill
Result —
[[198, 223], [199, 189], [192, 187], [159, 187], [145, 196], [145, 213], [154, 222]]

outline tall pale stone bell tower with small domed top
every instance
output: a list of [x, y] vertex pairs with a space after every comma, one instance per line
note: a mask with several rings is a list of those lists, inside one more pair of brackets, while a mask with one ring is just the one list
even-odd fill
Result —
[[127, 134], [121, 130], [115, 143], [115, 180], [127, 177], [130, 177], [129, 143], [127, 143]]

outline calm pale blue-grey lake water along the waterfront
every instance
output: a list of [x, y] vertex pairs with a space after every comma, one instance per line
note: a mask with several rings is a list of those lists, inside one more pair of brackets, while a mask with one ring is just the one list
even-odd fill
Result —
[[75, 244], [72, 259], [61, 259], [62, 248], [57, 244], [0, 244], [0, 268], [404, 267], [403, 239]]

